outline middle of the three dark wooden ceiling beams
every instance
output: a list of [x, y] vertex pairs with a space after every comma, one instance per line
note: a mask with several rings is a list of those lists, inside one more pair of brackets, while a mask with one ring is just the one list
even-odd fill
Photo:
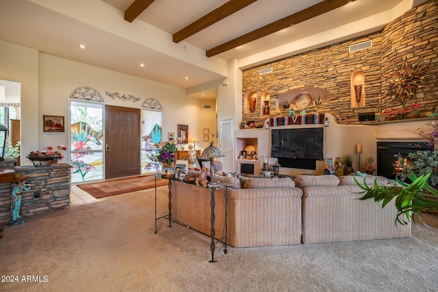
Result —
[[230, 16], [231, 14], [241, 10], [242, 8], [245, 8], [255, 1], [257, 0], [230, 0], [227, 3], [221, 5], [219, 8], [216, 8], [215, 10], [205, 14], [201, 17], [201, 19], [190, 23], [190, 25], [173, 34], [172, 39], [174, 42], [181, 42], [181, 40], [184, 40], [185, 38], [196, 34], [196, 32], [201, 32], [201, 30], [209, 27], [214, 23], [217, 23], [218, 21], [224, 19], [227, 16]]

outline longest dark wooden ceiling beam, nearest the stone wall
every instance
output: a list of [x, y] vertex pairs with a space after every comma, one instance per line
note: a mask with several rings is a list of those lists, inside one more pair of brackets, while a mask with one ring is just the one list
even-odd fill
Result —
[[248, 42], [252, 42], [253, 40], [263, 38], [263, 36], [268, 36], [270, 34], [273, 34], [274, 32], [279, 32], [281, 29], [285, 29], [286, 27], [296, 25], [297, 23], [301, 23], [302, 21], [307, 21], [309, 19], [312, 19], [313, 17], [319, 16], [331, 10], [335, 10], [336, 8], [346, 5], [352, 1], [356, 0], [324, 0], [309, 8], [286, 16], [279, 21], [274, 21], [273, 23], [255, 29], [253, 32], [248, 32], [248, 34], [244, 34], [243, 36], [239, 36], [238, 38], [230, 40], [229, 42], [224, 42], [222, 45], [218, 45], [217, 47], [209, 49], [205, 52], [205, 56], [216, 56], [219, 53], [223, 53], [224, 51], [229, 51], [230, 49], [234, 49], [235, 47], [239, 47]]

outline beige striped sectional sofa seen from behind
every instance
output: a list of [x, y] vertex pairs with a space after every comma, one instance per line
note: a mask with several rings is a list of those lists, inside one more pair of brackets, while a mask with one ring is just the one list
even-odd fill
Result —
[[[366, 178], [387, 184], [383, 177]], [[396, 226], [396, 208], [360, 201], [351, 175], [300, 175], [290, 178], [235, 178], [227, 182], [227, 243], [233, 247], [296, 245], [411, 236], [411, 226]], [[172, 219], [210, 234], [210, 190], [174, 181]], [[225, 234], [225, 189], [215, 193], [216, 238]]]

